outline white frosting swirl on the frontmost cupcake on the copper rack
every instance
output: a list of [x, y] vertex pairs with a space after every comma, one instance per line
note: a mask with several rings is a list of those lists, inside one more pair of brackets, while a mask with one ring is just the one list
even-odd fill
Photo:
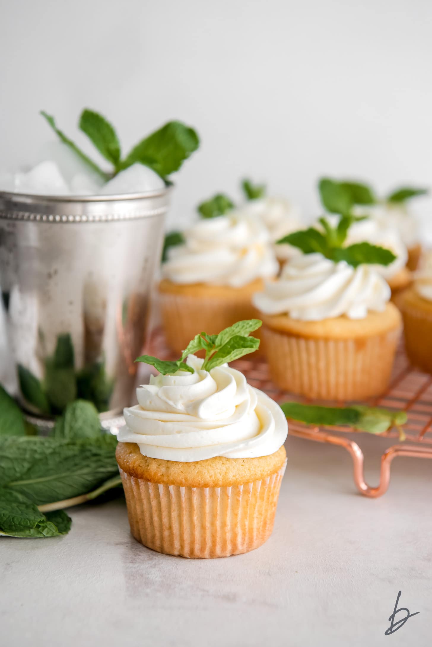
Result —
[[321, 254], [304, 254], [288, 261], [278, 281], [267, 283], [252, 298], [265, 314], [289, 314], [292, 319], [322, 321], [345, 314], [363, 319], [369, 310], [381, 312], [389, 301], [389, 285], [371, 265], [354, 269]]

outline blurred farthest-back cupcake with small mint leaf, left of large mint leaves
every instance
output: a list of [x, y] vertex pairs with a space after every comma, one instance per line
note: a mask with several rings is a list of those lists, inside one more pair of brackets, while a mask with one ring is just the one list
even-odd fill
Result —
[[292, 245], [276, 245], [277, 241], [297, 231], [302, 225], [299, 208], [285, 198], [266, 195], [265, 184], [253, 184], [249, 179], [241, 183], [246, 203], [239, 206], [237, 212], [242, 215], [259, 217], [270, 236], [275, 256], [282, 265], [288, 258], [298, 256], [298, 250]]

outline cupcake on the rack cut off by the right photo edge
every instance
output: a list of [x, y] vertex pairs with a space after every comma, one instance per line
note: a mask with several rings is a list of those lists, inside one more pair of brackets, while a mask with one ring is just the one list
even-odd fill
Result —
[[401, 303], [405, 349], [411, 364], [432, 373], [432, 253], [422, 259]]

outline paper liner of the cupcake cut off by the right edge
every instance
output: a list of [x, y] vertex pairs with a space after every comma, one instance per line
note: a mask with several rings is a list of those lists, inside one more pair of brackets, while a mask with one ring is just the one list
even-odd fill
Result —
[[432, 309], [430, 313], [402, 303], [405, 350], [411, 364], [432, 373]]

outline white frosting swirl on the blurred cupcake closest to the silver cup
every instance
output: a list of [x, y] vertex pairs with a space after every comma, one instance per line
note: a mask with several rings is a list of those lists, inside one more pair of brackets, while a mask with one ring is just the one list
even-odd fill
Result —
[[268, 233], [259, 219], [231, 212], [202, 219], [184, 232], [186, 242], [171, 247], [162, 276], [173, 283], [243, 287], [277, 274]]

